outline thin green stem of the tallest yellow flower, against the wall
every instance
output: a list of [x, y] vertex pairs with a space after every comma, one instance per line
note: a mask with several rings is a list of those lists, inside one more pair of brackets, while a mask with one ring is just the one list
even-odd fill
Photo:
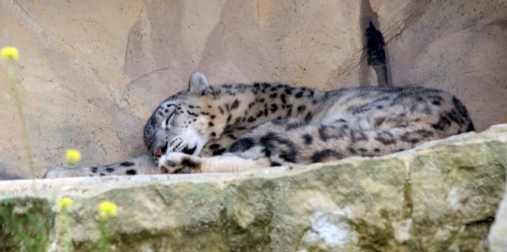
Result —
[[7, 60], [7, 74], [9, 75], [9, 81], [11, 82], [11, 89], [16, 100], [16, 106], [18, 107], [19, 121], [21, 122], [21, 130], [23, 131], [23, 141], [25, 144], [26, 159], [28, 160], [28, 167], [30, 168], [30, 179], [35, 179], [35, 169], [33, 167], [33, 154], [31, 151], [30, 141], [28, 140], [28, 126], [26, 125], [25, 116], [21, 108], [21, 98], [19, 97], [17, 81], [14, 78], [13, 71], [13, 60]]

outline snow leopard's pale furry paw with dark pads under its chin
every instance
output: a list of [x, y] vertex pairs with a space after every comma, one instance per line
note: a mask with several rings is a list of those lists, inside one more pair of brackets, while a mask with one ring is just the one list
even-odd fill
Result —
[[196, 173], [201, 164], [200, 157], [181, 152], [169, 152], [159, 158], [162, 173]]

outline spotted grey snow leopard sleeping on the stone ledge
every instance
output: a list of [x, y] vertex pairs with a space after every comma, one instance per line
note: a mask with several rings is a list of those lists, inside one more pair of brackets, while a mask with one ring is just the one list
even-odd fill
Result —
[[209, 86], [194, 72], [189, 89], [160, 104], [146, 123], [144, 142], [151, 156], [56, 168], [46, 178], [237, 172], [373, 157], [469, 131], [474, 126], [463, 104], [438, 90]]

